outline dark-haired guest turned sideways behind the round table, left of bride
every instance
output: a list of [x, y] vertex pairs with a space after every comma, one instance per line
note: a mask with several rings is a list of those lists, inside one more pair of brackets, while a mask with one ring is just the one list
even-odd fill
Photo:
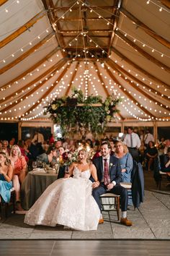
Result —
[[47, 153], [42, 153], [41, 155], [37, 156], [37, 161], [41, 161], [47, 164], [50, 164], [50, 163], [53, 164], [56, 162], [56, 156], [57, 156], [56, 148], [53, 146], [50, 146], [48, 148]]

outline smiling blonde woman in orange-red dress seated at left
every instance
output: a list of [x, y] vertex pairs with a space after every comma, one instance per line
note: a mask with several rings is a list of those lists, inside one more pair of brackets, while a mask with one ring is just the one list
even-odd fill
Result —
[[12, 182], [16, 193], [17, 210], [23, 210], [20, 202], [20, 186], [27, 175], [27, 162], [18, 145], [12, 146], [9, 159], [11, 160], [14, 169]]

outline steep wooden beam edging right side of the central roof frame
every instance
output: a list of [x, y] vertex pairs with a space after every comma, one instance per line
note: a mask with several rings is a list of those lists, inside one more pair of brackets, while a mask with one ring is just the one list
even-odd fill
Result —
[[122, 0], [117, 0], [117, 3], [116, 3], [117, 9], [115, 9], [115, 12], [113, 10], [115, 16], [112, 15], [112, 24], [113, 25], [111, 27], [112, 33], [111, 33], [110, 40], [109, 40], [109, 48], [108, 48], [108, 52], [107, 52], [108, 56], [111, 53], [111, 46], [112, 46], [112, 43], [113, 43], [113, 38], [115, 36], [115, 28], [117, 27], [117, 22], [118, 22], [119, 16], [120, 16], [120, 9], [119, 9], [119, 7], [121, 6], [121, 4], [122, 4]]

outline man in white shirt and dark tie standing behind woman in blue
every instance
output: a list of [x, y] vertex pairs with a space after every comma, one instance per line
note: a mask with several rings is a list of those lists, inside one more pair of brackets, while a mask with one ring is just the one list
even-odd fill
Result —
[[125, 136], [123, 143], [127, 145], [130, 154], [133, 159], [139, 162], [139, 148], [141, 145], [140, 138], [137, 133], [133, 132], [132, 127], [128, 127], [128, 134]]

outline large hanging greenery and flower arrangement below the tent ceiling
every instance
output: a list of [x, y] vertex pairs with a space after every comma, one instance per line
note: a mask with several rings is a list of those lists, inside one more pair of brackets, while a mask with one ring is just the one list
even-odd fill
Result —
[[48, 103], [44, 114], [50, 113], [50, 119], [61, 126], [64, 134], [78, 132], [81, 127], [101, 133], [108, 121], [115, 120], [116, 106], [120, 101], [114, 95], [109, 95], [104, 102], [101, 96], [89, 95], [85, 98], [81, 90], [73, 88], [71, 97], [55, 98]]

